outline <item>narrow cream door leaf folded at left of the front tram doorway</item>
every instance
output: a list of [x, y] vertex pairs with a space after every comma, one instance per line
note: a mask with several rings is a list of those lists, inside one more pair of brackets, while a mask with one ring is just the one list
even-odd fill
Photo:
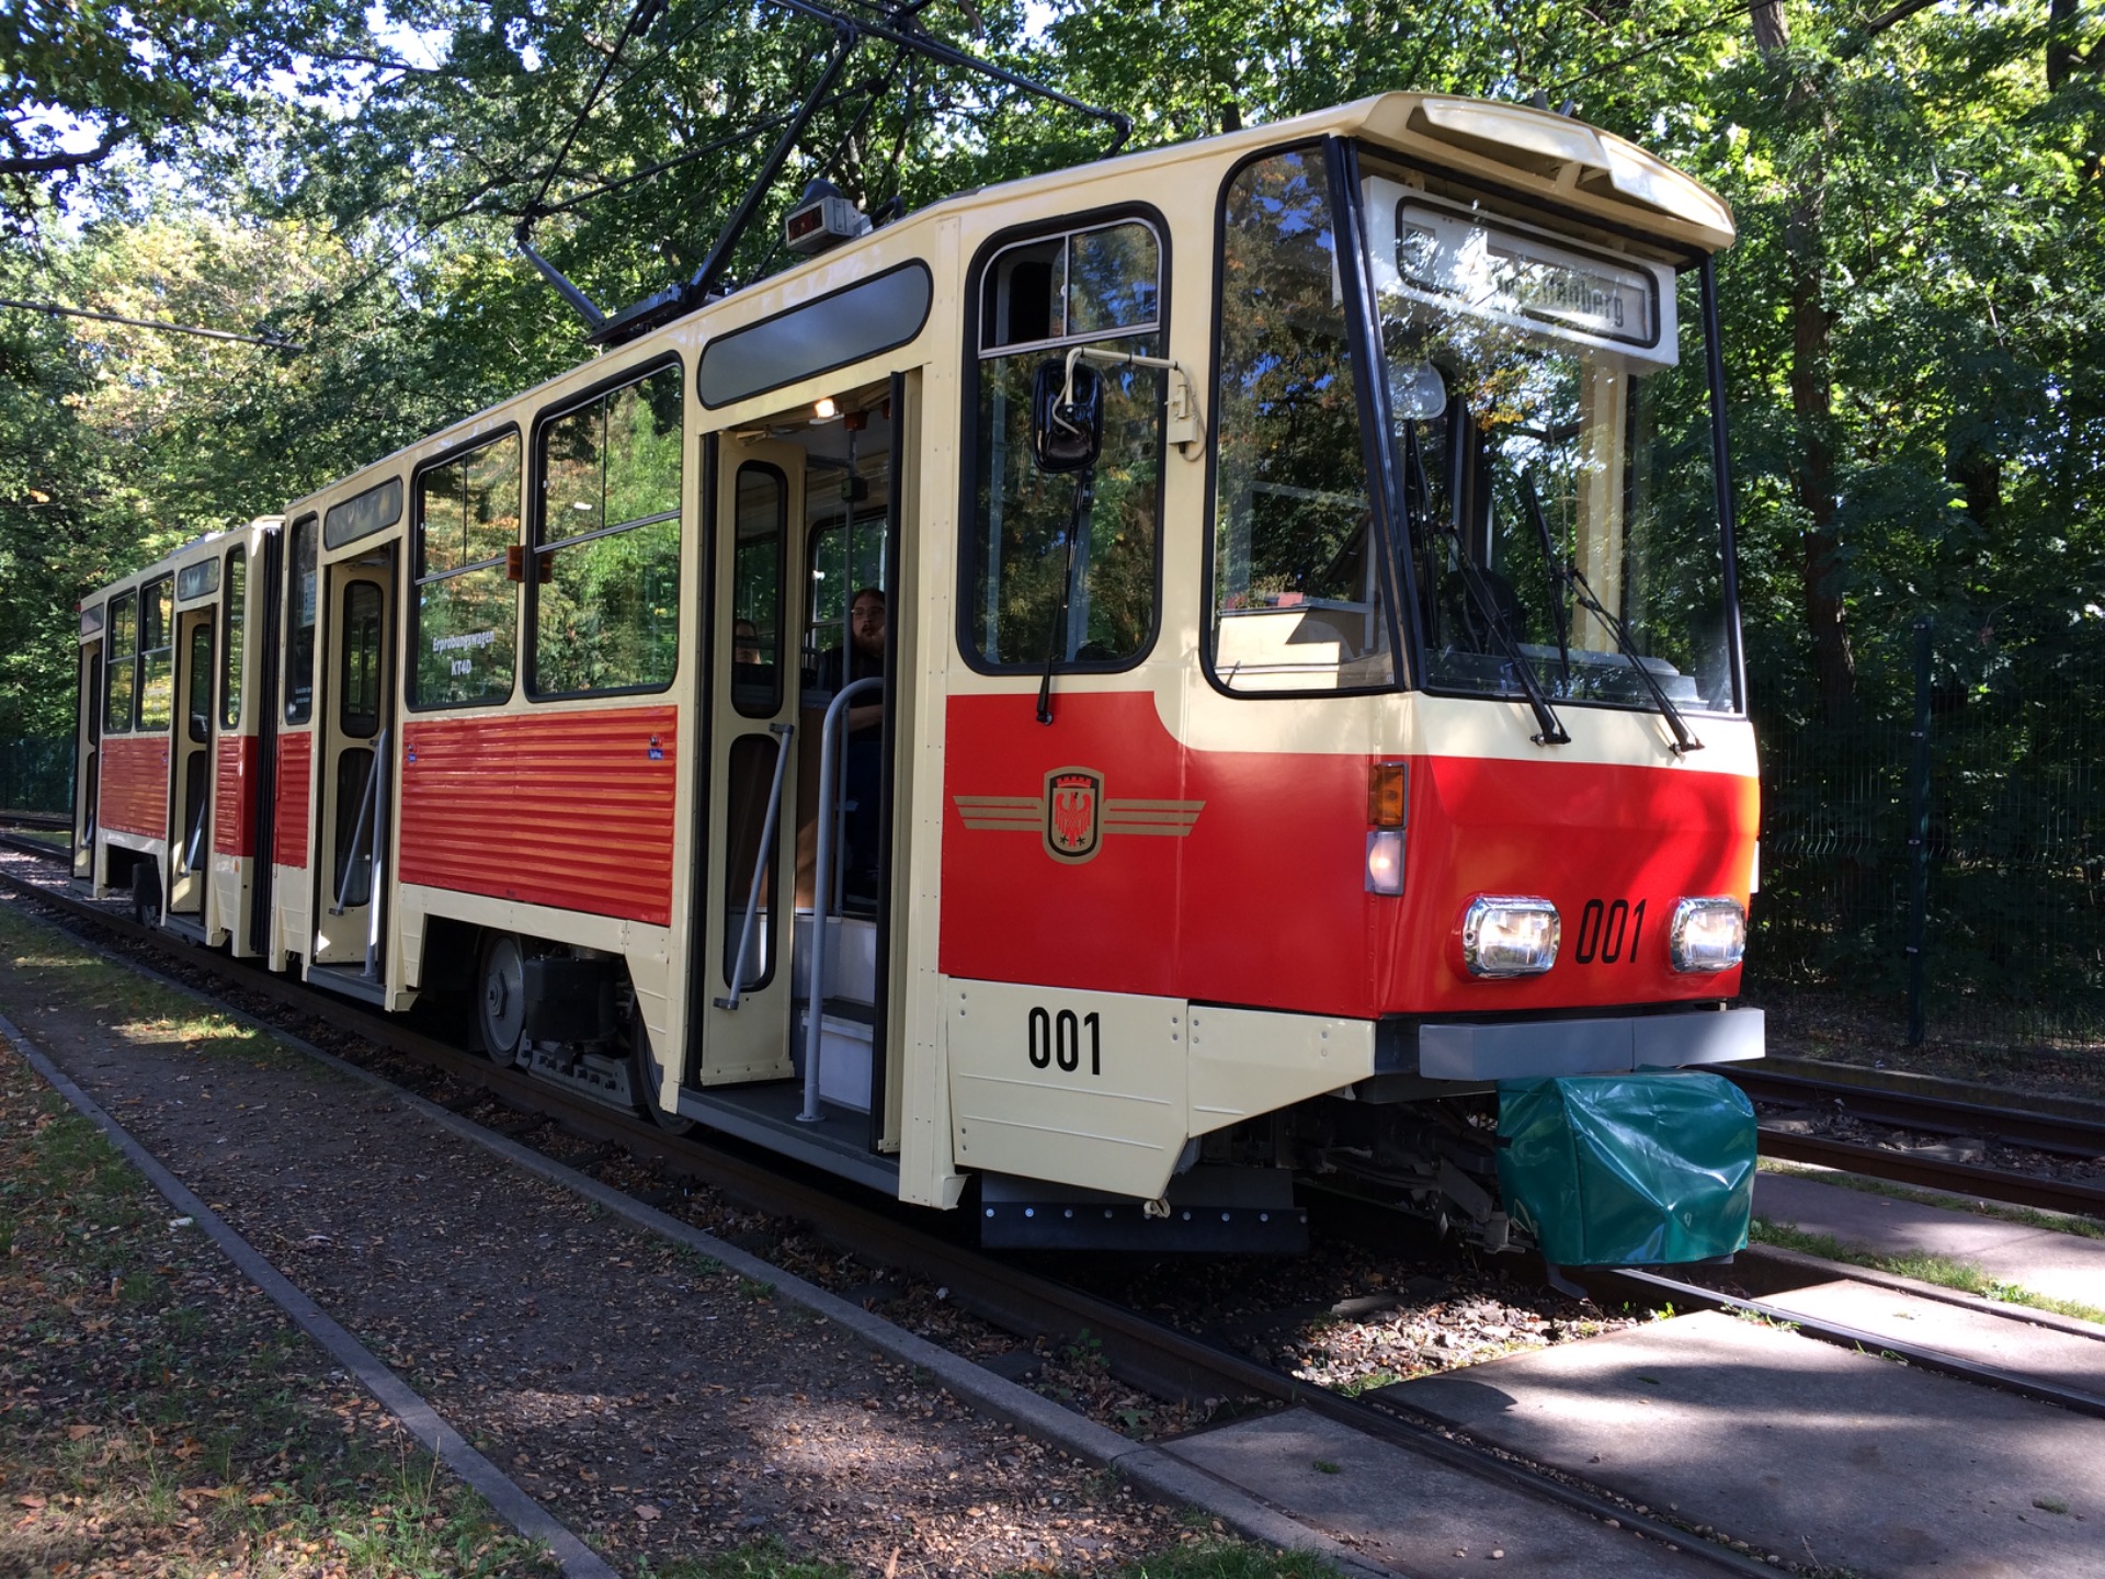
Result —
[[[709, 785], [695, 958], [699, 1084], [794, 1072], [791, 941], [796, 935], [798, 598], [804, 451], [724, 438], [718, 451], [705, 585], [709, 636]], [[768, 834], [768, 804], [775, 825]], [[751, 914], [751, 926], [747, 926]], [[743, 968], [739, 964], [743, 950]]]

